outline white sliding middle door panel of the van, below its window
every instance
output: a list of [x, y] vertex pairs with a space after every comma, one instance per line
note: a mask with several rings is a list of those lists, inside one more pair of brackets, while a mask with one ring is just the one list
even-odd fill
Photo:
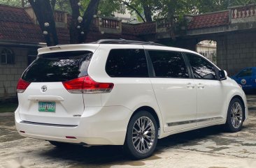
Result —
[[189, 128], [196, 123], [169, 127], [166, 123], [191, 121], [197, 115], [197, 89], [192, 79], [150, 78], [162, 113], [164, 132]]

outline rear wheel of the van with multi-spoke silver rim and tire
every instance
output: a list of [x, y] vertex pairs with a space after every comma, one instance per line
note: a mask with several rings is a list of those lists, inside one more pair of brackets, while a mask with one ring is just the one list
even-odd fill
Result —
[[157, 138], [158, 127], [155, 118], [149, 112], [140, 111], [129, 121], [125, 151], [133, 159], [148, 158], [155, 151]]

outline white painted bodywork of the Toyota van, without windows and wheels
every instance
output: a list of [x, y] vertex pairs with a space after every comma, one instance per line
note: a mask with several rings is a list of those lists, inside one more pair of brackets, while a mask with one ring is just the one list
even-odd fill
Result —
[[[159, 119], [159, 138], [168, 135], [225, 123], [223, 121], [189, 123], [167, 126], [167, 123], [192, 121], [211, 117], [227, 117], [227, 107], [234, 96], [246, 97], [239, 86], [227, 78], [224, 81], [174, 78], [113, 78], [106, 74], [105, 66], [111, 49], [162, 49], [190, 52], [187, 49], [152, 45], [66, 45], [61, 49], [39, 49], [39, 54], [59, 51], [90, 50], [94, 52], [88, 67], [88, 75], [96, 82], [114, 84], [111, 93], [69, 93], [61, 82], [31, 83], [24, 93], [19, 93], [20, 105], [15, 112], [17, 130], [27, 130], [24, 136], [61, 142], [122, 145], [131, 115], [139, 107], [155, 110]], [[191, 52], [196, 54], [195, 52]], [[201, 86], [198, 88], [199, 83]], [[50, 86], [46, 99], [56, 100], [55, 113], [38, 112], [36, 98], [42, 99], [42, 84]], [[29, 96], [30, 99], [28, 100]], [[33, 97], [34, 96], [34, 97]], [[51, 97], [52, 96], [52, 97]], [[45, 100], [47, 101], [47, 100]], [[246, 105], [247, 107], [247, 105]], [[80, 114], [80, 117], [73, 115]], [[246, 116], [248, 111], [246, 110]], [[76, 128], [59, 128], [42, 125], [26, 125], [20, 121], [78, 125]], [[78, 137], [76, 140], [64, 136]]]

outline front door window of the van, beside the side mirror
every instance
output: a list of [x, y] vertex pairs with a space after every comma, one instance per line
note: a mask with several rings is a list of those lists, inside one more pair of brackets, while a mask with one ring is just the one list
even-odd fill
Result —
[[217, 79], [215, 69], [212, 63], [201, 56], [195, 54], [187, 54], [196, 79]]

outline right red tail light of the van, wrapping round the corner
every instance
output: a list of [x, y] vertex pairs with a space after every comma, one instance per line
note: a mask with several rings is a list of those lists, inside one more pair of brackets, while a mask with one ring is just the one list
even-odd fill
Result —
[[113, 83], [95, 82], [89, 76], [62, 82], [70, 93], [108, 93], [113, 89]]

